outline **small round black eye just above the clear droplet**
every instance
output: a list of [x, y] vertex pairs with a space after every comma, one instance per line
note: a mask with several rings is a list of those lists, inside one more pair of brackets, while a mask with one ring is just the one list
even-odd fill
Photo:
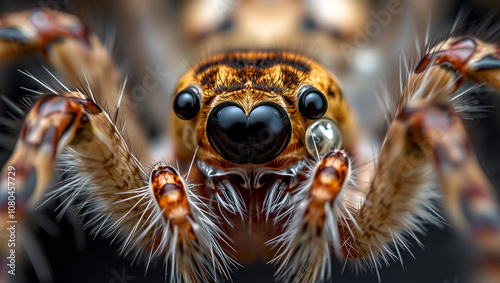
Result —
[[318, 120], [328, 108], [326, 97], [317, 89], [308, 87], [299, 97], [299, 112], [307, 119]]

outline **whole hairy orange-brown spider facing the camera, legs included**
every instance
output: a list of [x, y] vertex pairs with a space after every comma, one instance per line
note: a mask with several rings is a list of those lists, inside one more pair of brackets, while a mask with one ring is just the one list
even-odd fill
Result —
[[[359, 153], [348, 94], [321, 64], [282, 50], [214, 54], [179, 80], [173, 150], [147, 168], [134, 153], [146, 142], [125, 83], [77, 18], [34, 9], [3, 16], [0, 31], [2, 58], [41, 52], [67, 82], [27, 73], [49, 94], [29, 109], [3, 167], [2, 217], [9, 196], [20, 213], [36, 207], [60, 166], [70, 177], [50, 194], [85, 194], [78, 206], [92, 215], [91, 233], [119, 239], [120, 254], [146, 266], [164, 260], [172, 282], [228, 280], [255, 258], [275, 263], [285, 282], [326, 280], [333, 258], [377, 270], [401, 258], [406, 237], [441, 221], [439, 196], [459, 227], [498, 236], [492, 187], [457, 114], [464, 83], [500, 87], [495, 43], [450, 37], [427, 49], [373, 166]], [[476, 218], [463, 215], [462, 194]]]

